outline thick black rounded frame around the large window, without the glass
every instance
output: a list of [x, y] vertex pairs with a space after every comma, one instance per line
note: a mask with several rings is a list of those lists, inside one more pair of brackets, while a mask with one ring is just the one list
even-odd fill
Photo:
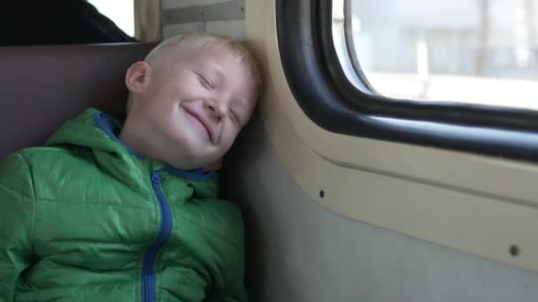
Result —
[[395, 100], [361, 91], [347, 78], [334, 48], [331, 0], [276, 0], [276, 10], [289, 87], [317, 125], [366, 138], [538, 161], [538, 112]]

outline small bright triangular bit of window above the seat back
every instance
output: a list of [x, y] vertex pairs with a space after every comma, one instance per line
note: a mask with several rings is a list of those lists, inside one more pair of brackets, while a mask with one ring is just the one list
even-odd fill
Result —
[[96, 9], [130, 36], [135, 36], [134, 0], [88, 0]]

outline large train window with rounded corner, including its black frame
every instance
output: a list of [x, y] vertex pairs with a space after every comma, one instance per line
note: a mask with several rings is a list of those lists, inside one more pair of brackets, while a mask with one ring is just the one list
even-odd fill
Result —
[[330, 132], [538, 162], [538, 0], [519, 1], [277, 0], [283, 71]]

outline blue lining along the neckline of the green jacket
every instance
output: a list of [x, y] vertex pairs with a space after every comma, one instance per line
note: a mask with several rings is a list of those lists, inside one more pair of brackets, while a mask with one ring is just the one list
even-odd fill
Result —
[[[136, 151], [135, 149], [128, 147], [126, 144], [124, 144], [121, 140], [119, 140], [118, 136], [116, 135], [116, 132], [114, 131], [114, 125], [112, 125], [111, 121], [104, 115], [102, 112], [95, 112], [94, 115], [94, 121], [96, 122], [96, 126], [99, 127], [108, 137], [119, 143], [121, 146], [127, 148], [129, 153], [132, 155], [135, 155], [136, 157], [140, 159], [145, 159], [146, 157]], [[165, 170], [172, 174], [175, 177], [181, 177], [181, 178], [187, 178], [188, 180], [193, 181], [206, 181], [210, 179], [213, 174], [215, 174], [215, 171], [204, 171], [203, 169], [196, 169], [196, 170], [179, 170], [175, 169], [170, 165], [166, 165]]]

